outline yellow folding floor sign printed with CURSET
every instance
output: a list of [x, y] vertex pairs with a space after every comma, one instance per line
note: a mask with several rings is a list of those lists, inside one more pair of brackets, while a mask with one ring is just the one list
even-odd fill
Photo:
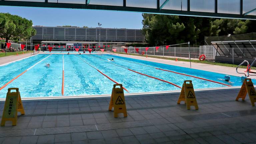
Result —
[[[16, 92], [11, 92], [11, 90], [16, 90]], [[4, 126], [6, 121], [12, 121], [12, 125], [16, 125], [18, 112], [22, 115], [25, 114], [19, 88], [9, 88], [6, 94], [1, 126]]]

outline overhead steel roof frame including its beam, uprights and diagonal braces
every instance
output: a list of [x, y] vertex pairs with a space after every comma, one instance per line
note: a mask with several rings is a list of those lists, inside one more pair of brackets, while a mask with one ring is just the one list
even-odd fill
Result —
[[[40, 1], [40, 2], [38, 2]], [[49, 1], [49, 2], [48, 2]], [[55, 2], [56, 1], [56, 2]], [[206, 12], [207, 10], [198, 11], [190, 11], [191, 5], [190, 1], [192, 0], [183, 0], [186, 1], [187, 8], [186, 10], [171, 10], [171, 9], [163, 9], [164, 6], [169, 2], [169, 0], [161, 0], [163, 2], [160, 5], [160, 0], [155, 0], [154, 7], [155, 8], [145, 8], [145, 7], [128, 7], [127, 1], [130, 0], [121, 0], [121, 6], [114, 5], [95, 5], [91, 4], [94, 0], [80, 0], [75, 3], [70, 1], [69, 3], [66, 0], [63, 3], [60, 3], [62, 0], [27, 0], [27, 1], [15, 1], [15, 0], [0, 0], [0, 5], [4, 6], [25, 6], [25, 7], [49, 7], [49, 8], [74, 8], [74, 9], [94, 9], [94, 10], [114, 10], [114, 11], [130, 11], [130, 12], [142, 12], [142, 13], [153, 13], [153, 14], [169, 14], [169, 15], [184, 15], [184, 16], [198, 16], [198, 17], [215, 17], [215, 18], [234, 18], [234, 19], [253, 19], [256, 20], [256, 15], [252, 14], [256, 8], [248, 10], [247, 12], [243, 11], [243, 0], [240, 0], [240, 13], [239, 14], [229, 14], [229, 13], [218, 13], [218, 1], [221, 0], [213, 0], [215, 1], [215, 10], [214, 12]], [[77, 0], [76, 0], [77, 1]], [[142, 0], [138, 0], [143, 2]], [[245, 1], [245, 0], [244, 0]], [[113, 3], [113, 1], [112, 1]], [[144, 5], [144, 4], [143, 4]], [[146, 5], [146, 3], [145, 3]], [[231, 3], [230, 3], [231, 5]], [[182, 4], [181, 4], [182, 7]], [[232, 12], [231, 12], [232, 13]]]

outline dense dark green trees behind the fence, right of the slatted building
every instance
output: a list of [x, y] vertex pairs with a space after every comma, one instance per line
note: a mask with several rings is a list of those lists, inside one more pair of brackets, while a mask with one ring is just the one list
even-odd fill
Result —
[[151, 46], [200, 44], [205, 36], [256, 32], [256, 21], [203, 17], [142, 14], [143, 32]]

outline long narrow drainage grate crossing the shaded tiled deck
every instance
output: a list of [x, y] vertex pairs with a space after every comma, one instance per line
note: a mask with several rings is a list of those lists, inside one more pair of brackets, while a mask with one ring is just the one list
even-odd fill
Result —
[[[214, 102], [203, 102], [201, 104], [224, 103], [224, 102], [234, 102], [234, 101], [233, 100], [214, 101]], [[198, 103], [198, 104], [200, 104], [200, 103]], [[181, 107], [181, 106], [184, 106], [184, 105], [167, 105], [167, 106], [157, 106], [157, 107], [128, 108], [127, 111], [158, 109], [158, 108], [170, 108], [170, 107]], [[96, 113], [109, 113], [109, 112], [113, 112], [113, 111], [99, 110], [99, 111], [85, 111], [85, 112], [63, 112], [63, 113], [48, 113], [48, 114], [25, 114], [25, 115], [18, 115], [18, 117], [63, 116], [63, 115], [96, 114]], [[0, 118], [2, 118], [2, 116], [0, 116]]]

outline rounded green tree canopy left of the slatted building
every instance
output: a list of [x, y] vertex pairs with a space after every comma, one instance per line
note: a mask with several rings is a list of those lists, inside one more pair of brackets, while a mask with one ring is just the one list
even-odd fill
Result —
[[30, 38], [36, 34], [32, 21], [9, 13], [0, 13], [0, 37], [6, 42], [15, 38]]

